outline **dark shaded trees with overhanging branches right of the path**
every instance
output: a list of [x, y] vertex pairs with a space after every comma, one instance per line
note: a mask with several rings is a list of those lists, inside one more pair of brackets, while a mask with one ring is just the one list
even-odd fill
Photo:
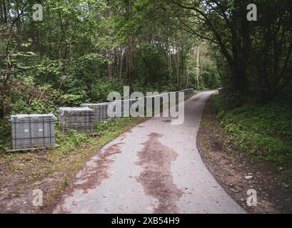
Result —
[[256, 21], [246, 18], [249, 0], [170, 2], [181, 26], [213, 46], [228, 90], [269, 100], [291, 81], [291, 1], [255, 1]]

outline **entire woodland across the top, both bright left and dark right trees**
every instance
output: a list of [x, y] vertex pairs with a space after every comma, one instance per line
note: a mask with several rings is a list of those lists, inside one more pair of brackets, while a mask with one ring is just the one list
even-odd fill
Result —
[[[43, 6], [34, 21], [33, 5]], [[223, 87], [265, 101], [291, 88], [292, 2], [1, 0], [0, 118], [131, 90]]]

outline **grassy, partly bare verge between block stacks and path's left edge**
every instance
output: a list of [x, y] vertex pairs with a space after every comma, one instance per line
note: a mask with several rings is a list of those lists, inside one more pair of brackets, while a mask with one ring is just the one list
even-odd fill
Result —
[[[11, 199], [30, 202], [28, 198], [32, 190], [41, 189], [45, 201], [41, 210], [46, 212], [56, 203], [56, 197], [69, 185], [76, 172], [99, 148], [144, 120], [146, 118], [115, 118], [107, 123], [98, 123], [95, 130], [99, 135], [95, 137], [73, 132], [68, 137], [59, 137], [57, 131], [58, 148], [1, 153], [0, 182], [3, 191], [0, 192], [0, 211], [5, 212], [6, 204]], [[36, 212], [30, 203], [21, 206], [19, 203], [12, 204], [9, 210]]]

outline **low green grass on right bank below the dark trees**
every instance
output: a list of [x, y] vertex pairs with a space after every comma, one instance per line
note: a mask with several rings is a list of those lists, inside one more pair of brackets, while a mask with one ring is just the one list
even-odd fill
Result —
[[292, 185], [292, 103], [283, 99], [268, 103], [241, 100], [234, 105], [231, 100], [235, 99], [230, 95], [214, 98], [218, 121], [230, 135], [226, 145], [255, 162], [268, 162]]

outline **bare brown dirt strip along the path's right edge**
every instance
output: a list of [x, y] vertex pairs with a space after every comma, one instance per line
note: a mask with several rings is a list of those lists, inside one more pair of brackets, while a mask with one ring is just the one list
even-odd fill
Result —
[[[216, 120], [210, 98], [198, 131], [198, 150], [218, 183], [248, 213], [292, 213], [292, 189], [267, 164], [258, 164], [233, 149], [226, 152], [228, 134]], [[257, 193], [257, 205], [248, 207], [247, 191]]]

